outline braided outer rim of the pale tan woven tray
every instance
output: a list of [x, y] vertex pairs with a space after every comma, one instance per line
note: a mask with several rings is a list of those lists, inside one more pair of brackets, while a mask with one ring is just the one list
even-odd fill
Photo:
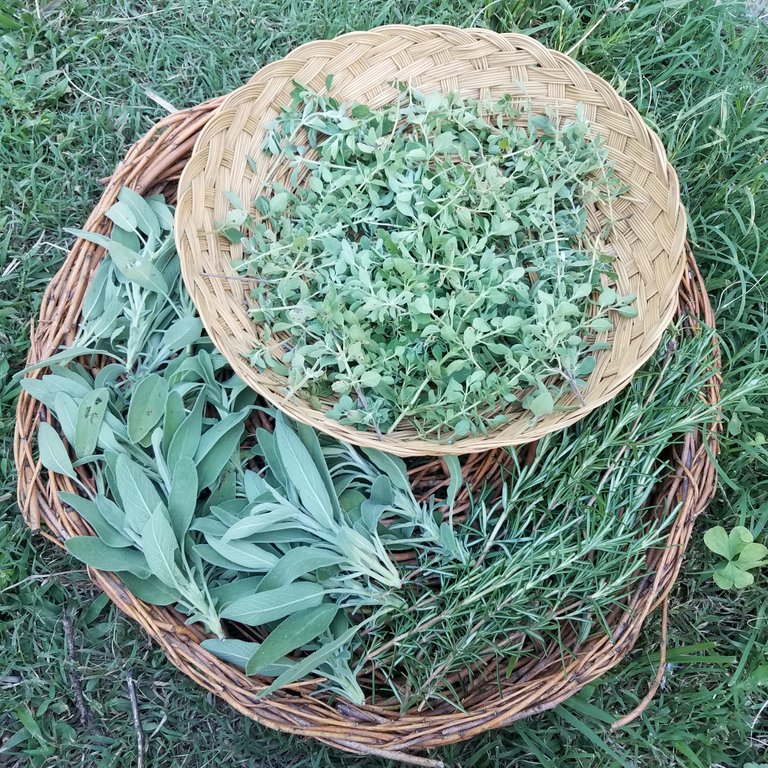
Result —
[[[286, 94], [293, 88], [294, 79], [299, 79], [308, 87], [322, 89], [326, 73], [333, 71], [336, 61], [346, 62], [347, 58], [352, 57], [350, 52], [355, 53], [353, 64], [357, 76], [357, 70], [361, 66], [378, 66], [379, 62], [369, 62], [368, 57], [375, 58], [379, 50], [385, 51], [382, 60], [387, 61], [390, 55], [393, 58], [395, 56], [390, 49], [402, 43], [396, 54], [402, 59], [407, 58], [407, 52], [410, 50], [402, 50], [406, 44], [412, 45], [414, 50], [423, 51], [435, 41], [450, 42], [455, 46], [456, 68], [462, 65], [470, 66], [467, 64], [470, 57], [475, 57], [471, 60], [471, 66], [474, 67], [475, 62], [478, 62], [477, 66], [481, 69], [483, 62], [487, 63], [494, 54], [516, 56], [519, 53], [536, 63], [536, 67], [531, 68], [531, 71], [540, 70], [547, 73], [546, 77], [551, 79], [553, 92], [565, 93], [567, 85], [563, 84], [563, 80], [567, 80], [567, 83], [573, 85], [574, 92], [581, 94], [585, 104], [590, 99], [599, 101], [602, 106], [595, 107], [596, 113], [598, 109], [610, 110], [610, 120], [605, 118], [606, 124], [610, 126], [610, 121], [621, 122], [621, 127], [615, 131], [612, 127], [605, 129], [609, 133], [609, 151], [615, 149], [612, 144], [623, 142], [627, 149], [619, 152], [619, 156], [625, 159], [633, 158], [632, 173], [623, 176], [625, 182], [629, 182], [630, 177], [633, 179], [630, 197], [646, 194], [641, 191], [644, 187], [649, 190], [648, 205], [637, 204], [637, 207], [632, 209], [633, 216], [628, 217], [642, 219], [642, 225], [636, 225], [635, 231], [632, 229], [635, 225], [630, 221], [627, 224], [630, 229], [626, 233], [626, 239], [623, 235], [617, 236], [617, 242], [628, 242], [635, 237], [637, 243], [640, 243], [627, 245], [629, 252], [620, 254], [619, 259], [621, 261], [626, 258], [628, 270], [638, 269], [637, 275], [644, 275], [642, 280], [635, 279], [637, 275], [633, 278], [622, 278], [626, 283], [623, 288], [629, 289], [630, 285], [632, 290], [639, 288], [637, 292], [640, 315], [634, 319], [616, 319], [615, 332], [612, 334], [615, 343], [610, 350], [597, 353], [597, 367], [582, 392], [584, 403], [580, 403], [575, 395], [565, 395], [560, 402], [570, 407], [539, 419], [535, 425], [525, 412], [512, 412], [508, 424], [490, 430], [486, 435], [471, 435], [450, 444], [419, 438], [408, 426], [407, 420], [403, 420], [392, 433], [381, 436], [372, 430], [361, 431], [326, 417], [325, 406], [322, 410], [313, 407], [299, 396], [286, 399], [285, 378], [272, 371], [260, 372], [246, 359], [248, 351], [252, 348], [256, 328], [244, 310], [247, 289], [242, 280], [221, 279], [222, 275], [235, 274], [230, 260], [232, 256], [239, 254], [239, 247], [213, 234], [215, 222], [224, 218], [223, 210], [219, 210], [221, 215], [216, 215], [214, 210], [221, 204], [219, 198], [223, 200], [223, 191], [234, 191], [242, 199], [251, 197], [245, 191], [248, 182], [233, 181], [231, 170], [244, 151], [246, 137], [254, 130], [249, 127], [251, 115], [265, 114], [263, 94], [267, 94], [272, 100], [269, 107], [271, 109], [272, 103], [287, 99]], [[440, 51], [440, 56], [448, 55], [445, 50]], [[362, 60], [364, 64], [361, 65]], [[352, 64], [345, 66], [351, 67]], [[367, 71], [369, 70], [363, 70], [363, 75]], [[342, 69], [342, 72], [346, 70]], [[476, 77], [474, 70], [471, 77]], [[382, 76], [382, 82], [386, 79]], [[561, 98], [560, 103], [568, 103], [566, 96], [558, 98]], [[589, 105], [593, 106], [591, 101]], [[599, 121], [594, 124], [601, 125]], [[629, 138], [622, 131], [630, 131]], [[243, 167], [245, 168], [245, 163]], [[653, 172], [649, 170], [651, 167]], [[643, 185], [634, 180], [638, 173], [647, 174]], [[221, 176], [227, 176], [232, 182], [228, 184], [227, 190], [216, 189], [216, 182]], [[244, 173], [242, 178], [245, 176], [247, 173]], [[242, 184], [242, 188], [235, 187], [235, 184]], [[649, 221], [645, 221], [646, 209], [660, 212], [653, 226]], [[637, 110], [619, 96], [603, 78], [582, 68], [565, 54], [548, 49], [526, 35], [499, 34], [485, 29], [459, 29], [446, 25], [390, 25], [368, 32], [350, 32], [334, 40], [305, 43], [285, 58], [267, 64], [248, 83], [224, 98], [216, 114], [201, 132], [193, 156], [182, 174], [176, 242], [185, 283], [198, 306], [208, 334], [236, 373], [250, 387], [284, 410], [291, 418], [339, 440], [353, 445], [381, 448], [399, 456], [423, 456], [461, 455], [530, 442], [575, 423], [615, 397], [653, 354], [674, 315], [677, 303], [676, 286], [685, 268], [685, 229], [686, 217], [677, 176], [660, 139], [644, 123]], [[660, 235], [663, 231], [667, 234]], [[642, 236], [638, 235], [638, 232]], [[656, 251], [667, 255], [662, 256], [655, 253]], [[620, 266], [619, 269], [621, 271], [624, 267]], [[216, 277], [211, 277], [211, 274]], [[643, 302], [646, 292], [648, 300]], [[607, 334], [598, 336], [600, 339], [607, 337]], [[328, 398], [328, 404], [331, 402], [335, 402], [335, 399]]]

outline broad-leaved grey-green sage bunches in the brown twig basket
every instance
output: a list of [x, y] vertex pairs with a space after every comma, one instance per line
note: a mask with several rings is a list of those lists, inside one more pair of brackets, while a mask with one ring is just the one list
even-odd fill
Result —
[[[305, 649], [359, 699], [345, 666], [357, 628], [339, 609], [398, 604], [400, 574], [386, 547], [403, 537], [379, 526], [381, 515], [394, 515], [409, 534], [423, 529], [422, 543], [434, 535], [449, 559], [461, 549], [441, 533], [434, 510], [405, 491], [405, 468], [394, 460], [321, 445], [312, 430], [281, 417], [274, 433], [249, 435], [255, 394], [202, 335], [180, 280], [171, 209], [123, 190], [108, 215], [111, 237], [77, 233], [108, 256], [73, 346], [48, 361], [50, 373], [22, 382], [74, 450], [72, 461], [58, 432], [41, 425], [43, 464], [79, 484], [83, 495], [62, 501], [96, 534], [70, 538], [67, 549], [118, 573], [139, 598], [175, 604], [202, 622], [221, 638], [209, 643], [216, 652], [240, 643], [224, 639], [222, 620], [276, 630], [247, 646], [249, 672], [283, 675], [278, 685], [309, 674], [306, 660], [299, 673], [285, 658]], [[110, 362], [95, 375], [61, 364], [88, 354]], [[80, 483], [83, 465], [95, 493]]]

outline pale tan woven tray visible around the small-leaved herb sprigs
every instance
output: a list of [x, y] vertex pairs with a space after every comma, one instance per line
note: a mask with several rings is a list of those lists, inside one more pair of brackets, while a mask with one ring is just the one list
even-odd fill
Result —
[[[508, 422], [489, 434], [451, 444], [420, 439], [407, 419], [382, 437], [325, 416], [332, 399], [318, 409], [299, 395], [286, 397], [284, 377], [260, 372], [248, 362], [258, 328], [248, 313], [247, 281], [227, 277], [235, 274], [231, 261], [241, 256], [242, 248], [216, 234], [216, 223], [224, 220], [229, 207], [224, 193], [251, 200], [266, 178], [290, 187], [288, 164], [261, 151], [265, 127], [289, 103], [294, 82], [320, 91], [328, 75], [333, 75], [332, 93], [347, 103], [387, 103], [396, 94], [392, 82], [400, 80], [424, 92], [457, 91], [480, 99], [511, 93], [533, 112], [556, 107], [565, 118], [583, 106], [629, 190], [615, 206], [619, 221], [608, 248], [616, 257], [618, 290], [637, 294], [639, 310], [634, 319], [616, 320], [612, 347], [596, 356], [583, 402], [571, 393], [560, 401], [567, 408], [535, 425], [530, 414], [510, 411], [505, 414]], [[592, 214], [600, 223], [602, 214]], [[661, 142], [603, 79], [524, 35], [390, 26], [307, 43], [227, 96], [182, 175], [176, 239], [184, 279], [206, 329], [246, 383], [292, 418], [340, 440], [399, 456], [423, 456], [526, 443], [573, 424], [614, 397], [653, 353], [675, 311], [685, 264], [685, 226], [677, 178]], [[275, 334], [273, 353], [278, 358], [285, 338]]]

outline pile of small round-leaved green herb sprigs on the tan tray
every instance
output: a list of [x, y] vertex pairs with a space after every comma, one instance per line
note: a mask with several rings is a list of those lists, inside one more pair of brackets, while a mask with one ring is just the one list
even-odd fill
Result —
[[440, 441], [578, 394], [597, 335], [636, 314], [608, 284], [620, 182], [581, 117], [519, 122], [508, 98], [297, 87], [264, 145], [295, 188], [266, 181], [253, 215], [230, 195], [222, 227], [255, 278], [252, 362], [345, 424]]

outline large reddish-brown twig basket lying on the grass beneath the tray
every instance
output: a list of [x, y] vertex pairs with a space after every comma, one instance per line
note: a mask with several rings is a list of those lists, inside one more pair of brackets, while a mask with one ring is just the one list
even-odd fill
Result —
[[[212, 101], [177, 112], [156, 125], [128, 152], [111, 177], [86, 229], [109, 230], [104, 212], [123, 185], [145, 194], [162, 192], [172, 200], [192, 145], [219, 103]], [[100, 248], [84, 240], [76, 241], [43, 298], [40, 319], [32, 331], [30, 364], [71, 344], [83, 295], [101, 257]], [[689, 316], [692, 327], [699, 318], [713, 323], [701, 277], [690, 255], [678, 295], [680, 311]], [[718, 361], [718, 351], [713, 348], [713, 364]], [[31, 375], [43, 373], [37, 370]], [[718, 402], [716, 378], [710, 380], [702, 397], [711, 403]], [[30, 528], [61, 545], [70, 536], [90, 535], [92, 531], [59, 501], [58, 491], [77, 492], [72, 481], [47, 473], [35, 458], [35, 433], [41, 420], [48, 418], [45, 408], [22, 392], [14, 443], [18, 497]], [[668, 514], [677, 505], [679, 511], [669, 529], [667, 546], [650, 553], [648, 572], [627, 596], [626, 608], [609, 617], [613, 639], [602, 632], [582, 642], [571, 638], [572, 655], [565, 662], [556, 646], [545, 648], [538, 658], [516, 667], [501, 689], [495, 683], [475, 689], [464, 712], [401, 714], [384, 707], [324, 701], [309, 695], [311, 686], [307, 683], [297, 683], [257, 699], [256, 694], [263, 690], [265, 682], [247, 677], [204, 651], [200, 647], [204, 633], [199, 625], [186, 626], [184, 617], [173, 609], [141, 602], [114, 574], [91, 570], [90, 575], [115, 605], [144, 628], [176, 667], [238, 712], [270, 728], [311, 736], [350, 752], [439, 766], [439, 761], [414, 753], [458, 742], [554, 707], [614, 667], [632, 649], [648, 614], [662, 603], [666, 606], [666, 596], [680, 569], [694, 520], [714, 491], [711, 457], [717, 452], [718, 430], [719, 426], [712, 424], [706, 442], [698, 431], [689, 434], [672, 458], [675, 471], [655, 489], [653, 503], [659, 515]], [[496, 459], [498, 456], [492, 453], [469, 457], [465, 462], [468, 483], [493, 481], [492, 473], [498, 471]], [[93, 485], [87, 468], [78, 472], [84, 483]], [[442, 462], [423, 463], [414, 471], [413, 482], [425, 492], [445, 482]]]

